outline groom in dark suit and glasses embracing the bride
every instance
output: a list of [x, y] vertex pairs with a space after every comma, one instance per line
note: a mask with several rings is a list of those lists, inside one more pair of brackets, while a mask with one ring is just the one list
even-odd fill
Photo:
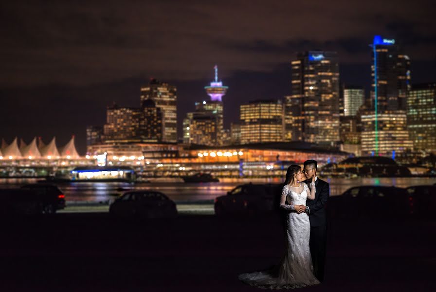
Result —
[[327, 219], [326, 203], [329, 197], [329, 185], [327, 182], [320, 180], [316, 176], [318, 165], [315, 160], [304, 162], [303, 172], [306, 175], [307, 183], [310, 186], [312, 176], [315, 176], [315, 200], [308, 200], [306, 212], [310, 220], [310, 254], [312, 256], [313, 274], [320, 282], [324, 281], [324, 268], [326, 261], [326, 237], [327, 237]]

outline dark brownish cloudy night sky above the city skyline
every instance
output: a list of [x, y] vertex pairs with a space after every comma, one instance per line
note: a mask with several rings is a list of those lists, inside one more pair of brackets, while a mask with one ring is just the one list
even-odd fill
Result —
[[[178, 120], [207, 100], [214, 77], [229, 91], [224, 127], [239, 105], [291, 93], [290, 61], [302, 50], [337, 51], [341, 82], [370, 85], [374, 35], [395, 38], [412, 61], [412, 83], [436, 81], [432, 1], [2, 1], [0, 137], [58, 146], [106, 106], [138, 106], [151, 77], [178, 87]], [[367, 92], [368, 94], [368, 92]], [[179, 134], [181, 136], [181, 134]]]

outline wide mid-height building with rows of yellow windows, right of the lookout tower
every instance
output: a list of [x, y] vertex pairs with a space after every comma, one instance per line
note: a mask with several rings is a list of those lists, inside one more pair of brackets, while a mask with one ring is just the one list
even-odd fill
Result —
[[241, 144], [283, 141], [283, 103], [256, 100], [240, 106]]

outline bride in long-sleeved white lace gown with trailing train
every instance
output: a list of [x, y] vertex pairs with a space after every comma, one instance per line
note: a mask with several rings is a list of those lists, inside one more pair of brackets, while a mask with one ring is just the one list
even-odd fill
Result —
[[[290, 211], [286, 222], [286, 252], [272, 270], [240, 274], [239, 279], [263, 289], [293, 289], [320, 284], [313, 275], [309, 249], [310, 223], [306, 198], [315, 199], [315, 175], [309, 187], [301, 166], [292, 164], [286, 172], [280, 208]], [[288, 204], [286, 204], [287, 202]]]

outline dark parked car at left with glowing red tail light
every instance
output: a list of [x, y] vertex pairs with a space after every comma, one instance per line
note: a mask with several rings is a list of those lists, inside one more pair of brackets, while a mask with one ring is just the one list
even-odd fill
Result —
[[41, 201], [42, 212], [55, 214], [57, 210], [64, 209], [65, 195], [54, 184], [26, 184], [21, 189], [29, 190]]

